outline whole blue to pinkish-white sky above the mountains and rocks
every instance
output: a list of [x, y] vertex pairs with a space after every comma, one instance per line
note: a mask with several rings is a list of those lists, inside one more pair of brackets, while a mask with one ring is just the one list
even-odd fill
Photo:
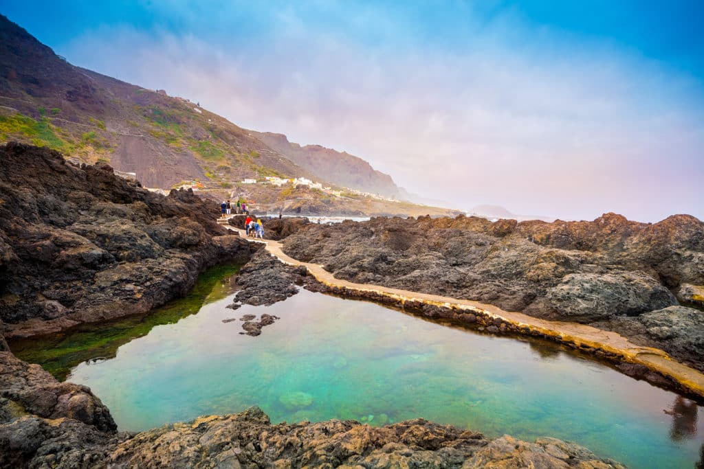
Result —
[[704, 219], [704, 2], [0, 0], [70, 63], [455, 208]]

